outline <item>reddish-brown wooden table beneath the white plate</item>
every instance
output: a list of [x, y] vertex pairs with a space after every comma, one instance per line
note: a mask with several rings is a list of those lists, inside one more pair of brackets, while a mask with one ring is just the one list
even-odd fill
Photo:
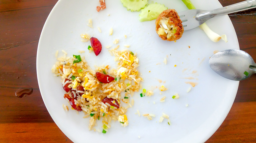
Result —
[[[219, 0], [223, 6], [242, 0]], [[37, 83], [41, 30], [57, 0], [0, 1], [0, 142], [72, 142], [53, 122]], [[256, 59], [256, 10], [229, 14], [240, 49]], [[220, 128], [206, 141], [256, 142], [256, 75], [241, 81]], [[15, 92], [33, 88], [31, 95]]]

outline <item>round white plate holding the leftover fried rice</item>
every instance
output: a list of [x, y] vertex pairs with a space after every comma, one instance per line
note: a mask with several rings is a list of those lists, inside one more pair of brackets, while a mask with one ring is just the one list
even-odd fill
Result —
[[[220, 8], [217, 0], [191, 0], [198, 9]], [[168, 8], [178, 12], [186, 10], [181, 0], [156, 0]], [[149, 1], [151, 3], [151, 1]], [[120, 1], [106, 0], [106, 9], [97, 12], [99, 2], [89, 0], [59, 0], [51, 11], [43, 27], [37, 50], [37, 78], [44, 103], [61, 131], [74, 142], [204, 142], [221, 125], [234, 102], [238, 89], [238, 81], [231, 81], [219, 76], [211, 70], [208, 59], [214, 51], [239, 49], [238, 40], [232, 23], [227, 15], [207, 21], [208, 26], [220, 35], [226, 34], [228, 42], [223, 40], [214, 43], [210, 41], [200, 28], [185, 31], [177, 42], [161, 40], [155, 31], [155, 20], [139, 22], [140, 12], [127, 11]], [[93, 27], [87, 26], [92, 19]], [[100, 27], [102, 33], [97, 29]], [[113, 35], [109, 36], [110, 28]], [[102, 43], [99, 56], [87, 50], [90, 42], [81, 42], [80, 34], [88, 33]], [[124, 38], [127, 35], [127, 38]], [[113, 44], [119, 39], [118, 44]], [[53, 77], [51, 68], [56, 62], [55, 52], [59, 55], [65, 50], [68, 56], [85, 56], [89, 65], [112, 65], [116, 68], [114, 57], [110, 56], [106, 45], [119, 50], [129, 44], [133, 53], [138, 54], [139, 71], [142, 73], [143, 88], [154, 90], [151, 97], [134, 95], [135, 104], [128, 109], [129, 126], [123, 128], [120, 123], [111, 122], [111, 128], [106, 134], [88, 131], [89, 119], [75, 111], [64, 111], [62, 104], [64, 90], [60, 78]], [[190, 46], [190, 48], [188, 47]], [[84, 50], [85, 53], [78, 53]], [[163, 64], [164, 58], [167, 65]], [[174, 67], [174, 65], [177, 65]], [[187, 70], [185, 70], [187, 69]], [[149, 72], [151, 71], [151, 72]], [[193, 73], [196, 72], [196, 73]], [[194, 79], [186, 79], [193, 77]], [[159, 83], [158, 79], [165, 81]], [[191, 85], [185, 82], [198, 83], [186, 92]], [[159, 87], [164, 85], [167, 91], [161, 92]], [[179, 99], [172, 99], [178, 93]], [[166, 96], [164, 103], [160, 98]], [[153, 102], [155, 101], [156, 104]], [[186, 107], [185, 105], [189, 106]], [[137, 109], [141, 114], [155, 114], [153, 120], [136, 115]], [[160, 116], [165, 113], [170, 116], [172, 125], [167, 119], [159, 123]], [[101, 121], [96, 129], [101, 128]], [[140, 136], [140, 138], [138, 137]]]

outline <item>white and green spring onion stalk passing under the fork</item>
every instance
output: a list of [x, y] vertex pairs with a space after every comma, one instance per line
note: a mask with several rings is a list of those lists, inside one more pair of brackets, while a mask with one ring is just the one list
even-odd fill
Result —
[[[182, 2], [187, 6], [188, 9], [196, 9], [195, 6], [191, 3], [190, 0], [182, 0]], [[208, 38], [214, 42], [218, 42], [219, 40], [223, 39], [225, 42], [227, 42], [227, 37], [226, 35], [220, 36], [219, 34], [213, 32], [207, 24], [203, 23], [202, 25], [199, 26], [205, 34], [208, 36]]]

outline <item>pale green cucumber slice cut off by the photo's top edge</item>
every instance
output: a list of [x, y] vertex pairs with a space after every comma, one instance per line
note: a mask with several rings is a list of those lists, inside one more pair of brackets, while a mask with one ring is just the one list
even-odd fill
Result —
[[127, 10], [139, 11], [141, 8], [145, 8], [148, 0], [121, 0], [121, 3]]

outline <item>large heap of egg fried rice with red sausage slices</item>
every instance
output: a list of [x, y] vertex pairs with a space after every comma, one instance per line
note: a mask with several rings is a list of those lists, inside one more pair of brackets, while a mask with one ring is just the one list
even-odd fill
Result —
[[[80, 55], [57, 57], [53, 65], [54, 76], [61, 78], [62, 87], [65, 90], [64, 98], [68, 105], [64, 110], [75, 110], [83, 112], [84, 118], [90, 118], [89, 130], [95, 130], [97, 120], [102, 119], [103, 133], [110, 128], [111, 120], [118, 120], [122, 126], [128, 125], [125, 115], [127, 108], [131, 107], [130, 101], [134, 92], [138, 92], [142, 78], [136, 69], [139, 66], [139, 59], [131, 51], [109, 50], [111, 55], [116, 56], [117, 69], [110, 69], [109, 66], [97, 67], [92, 70]], [[109, 83], [101, 83], [96, 72], [109, 75], [115, 80]], [[121, 93], [125, 93], [125, 98]], [[129, 117], [128, 117], [129, 118]]]

